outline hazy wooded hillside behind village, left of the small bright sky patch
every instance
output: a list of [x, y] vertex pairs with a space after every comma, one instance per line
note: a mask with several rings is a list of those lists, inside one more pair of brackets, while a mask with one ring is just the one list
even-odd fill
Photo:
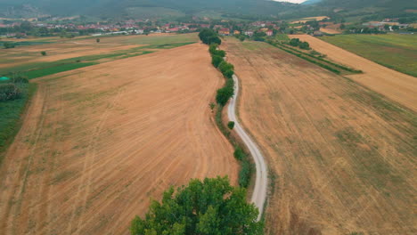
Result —
[[[220, 13], [276, 15], [279, 12], [297, 9], [297, 4], [280, 3], [268, 0], [34, 0], [25, 4], [24, 0], [0, 0], [0, 16], [12, 16], [11, 9], [23, 6], [36, 8], [38, 12], [53, 15], [86, 14], [91, 16], [129, 16], [137, 12], [152, 12], [164, 16], [166, 12], [176, 12], [176, 16], [196, 14], [203, 11]], [[19, 17], [22, 12], [13, 16]], [[20, 14], [20, 15], [17, 15]]]

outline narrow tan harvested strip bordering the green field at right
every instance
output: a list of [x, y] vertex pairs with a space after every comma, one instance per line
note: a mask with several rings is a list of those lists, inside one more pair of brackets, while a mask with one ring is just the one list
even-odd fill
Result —
[[364, 71], [364, 74], [350, 75], [348, 77], [377, 93], [387, 96], [393, 101], [399, 102], [409, 109], [417, 111], [416, 77], [388, 69], [314, 36], [298, 35], [290, 37], [298, 37], [302, 41], [307, 41], [315, 51], [326, 54], [332, 61]]

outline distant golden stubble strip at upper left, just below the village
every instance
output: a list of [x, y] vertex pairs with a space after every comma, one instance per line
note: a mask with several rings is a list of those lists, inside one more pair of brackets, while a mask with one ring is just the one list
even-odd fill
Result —
[[[100, 38], [100, 43], [96, 42]], [[167, 40], [183, 38], [184, 42], [197, 41], [195, 34], [174, 35], [174, 34], [151, 34], [149, 36], [78, 36], [76, 38], [60, 37], [39, 37], [33, 39], [13, 39], [14, 42], [46, 42], [43, 45], [17, 46], [11, 49], [0, 49], [2, 58], [0, 58], [0, 70], [10, 69], [17, 66], [30, 65], [33, 63], [61, 61], [71, 58], [78, 58], [88, 55], [109, 54], [129, 49], [137, 48], [143, 45], [150, 45], [152, 40]], [[148, 43], [141, 43], [141, 42]], [[181, 39], [178, 39], [181, 41]], [[157, 51], [155, 49], [147, 49]], [[47, 55], [42, 56], [41, 52]]]

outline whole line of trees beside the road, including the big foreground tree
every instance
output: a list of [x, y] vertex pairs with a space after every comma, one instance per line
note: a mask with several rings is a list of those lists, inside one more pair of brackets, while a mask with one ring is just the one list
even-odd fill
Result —
[[[218, 50], [220, 38], [211, 29], [203, 29], [200, 39], [208, 44], [212, 64], [224, 75], [226, 82], [217, 90], [216, 101], [220, 112], [233, 96], [234, 67], [225, 61], [225, 51]], [[214, 104], [210, 105], [212, 109]], [[229, 128], [233, 129], [230, 124]], [[241, 161], [239, 185], [230, 185], [227, 177], [194, 179], [187, 186], [171, 187], [161, 202], [153, 200], [149, 212], [142, 219], [136, 216], [130, 226], [132, 235], [261, 235], [264, 224], [258, 222], [258, 208], [247, 202], [251, 164], [239, 146], [234, 158]]]

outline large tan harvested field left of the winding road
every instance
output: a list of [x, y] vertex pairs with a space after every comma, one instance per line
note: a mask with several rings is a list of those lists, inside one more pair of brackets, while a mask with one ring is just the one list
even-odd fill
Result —
[[127, 234], [170, 185], [229, 175], [208, 103], [223, 85], [194, 44], [36, 79], [0, 171], [2, 234]]

